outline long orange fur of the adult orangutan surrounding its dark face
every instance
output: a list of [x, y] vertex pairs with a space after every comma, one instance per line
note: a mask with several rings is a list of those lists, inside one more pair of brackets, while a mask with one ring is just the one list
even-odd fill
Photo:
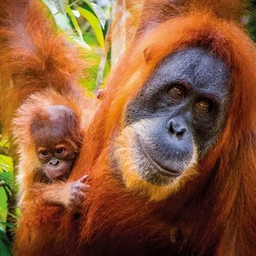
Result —
[[[256, 66], [254, 45], [239, 24], [244, 10], [244, 1], [235, 0], [145, 2], [135, 43], [109, 79], [72, 173], [71, 180], [85, 173], [92, 178], [83, 215], [76, 220], [58, 207], [30, 204], [17, 232], [16, 255], [255, 254]], [[165, 200], [150, 201], [114, 177], [109, 152], [122, 131], [126, 104], [157, 63], [197, 46], [230, 69], [226, 126], [199, 163], [196, 179]], [[174, 244], [170, 233], [177, 227], [183, 239]]]

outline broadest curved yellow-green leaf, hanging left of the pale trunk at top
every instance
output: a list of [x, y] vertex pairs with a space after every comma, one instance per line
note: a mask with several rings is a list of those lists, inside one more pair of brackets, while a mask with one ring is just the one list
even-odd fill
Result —
[[76, 7], [76, 8], [80, 12], [80, 14], [84, 18], [86, 18], [88, 20], [88, 22], [91, 24], [101, 48], [104, 49], [104, 36], [102, 33], [99, 19], [94, 14], [92, 14], [90, 11], [88, 11], [86, 9], [83, 9], [81, 7]]

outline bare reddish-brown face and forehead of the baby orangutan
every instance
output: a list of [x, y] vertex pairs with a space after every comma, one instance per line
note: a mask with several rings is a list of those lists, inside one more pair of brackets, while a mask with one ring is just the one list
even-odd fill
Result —
[[31, 132], [36, 153], [49, 179], [65, 179], [70, 175], [78, 154], [77, 130], [75, 113], [65, 106], [49, 106], [33, 119]]

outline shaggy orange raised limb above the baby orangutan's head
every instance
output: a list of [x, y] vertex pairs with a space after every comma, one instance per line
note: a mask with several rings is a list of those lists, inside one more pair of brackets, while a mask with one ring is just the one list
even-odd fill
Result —
[[53, 89], [79, 97], [78, 80], [88, 63], [58, 34], [44, 4], [8, 0], [0, 5], [0, 120], [7, 133], [15, 110], [28, 95]]

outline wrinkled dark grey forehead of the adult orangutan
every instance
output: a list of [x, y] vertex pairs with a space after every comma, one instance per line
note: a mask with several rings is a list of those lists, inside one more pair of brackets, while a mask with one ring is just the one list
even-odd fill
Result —
[[165, 57], [148, 79], [157, 89], [168, 83], [187, 83], [204, 94], [229, 95], [229, 71], [225, 63], [203, 48], [187, 48]]

